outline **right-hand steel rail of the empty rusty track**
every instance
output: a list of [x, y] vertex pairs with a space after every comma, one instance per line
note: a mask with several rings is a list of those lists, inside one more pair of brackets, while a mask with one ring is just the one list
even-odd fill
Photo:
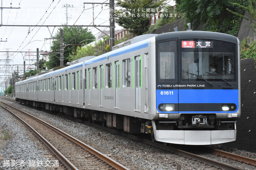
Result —
[[[3, 102], [2, 102], [3, 103]], [[6, 104], [6, 103], [5, 103]], [[7, 104], [9, 105], [9, 104]], [[11, 105], [9, 105], [10, 107], [12, 107]], [[15, 107], [12, 107], [16, 110], [19, 110], [20, 112], [23, 112], [24, 114], [26, 114], [29, 117], [32, 117], [33, 119], [36, 119], [36, 121], [41, 122], [42, 124], [44, 124], [45, 126], [53, 129], [54, 131], [62, 134], [63, 136], [65, 136], [66, 138], [70, 139], [71, 141], [73, 141], [74, 143], [76, 143], [77, 145], [81, 146], [82, 148], [84, 148], [85, 150], [89, 151], [90, 153], [92, 153], [93, 155], [97, 156], [98, 158], [100, 158], [101, 160], [103, 160], [104, 162], [106, 162], [107, 164], [111, 165], [112, 167], [116, 168], [117, 170], [130, 170], [129, 168], [125, 167], [124, 165], [116, 162], [115, 160], [113, 160], [112, 158], [109, 158], [108, 156], [104, 155], [103, 153], [101, 153], [100, 151], [95, 150], [94, 148], [90, 147], [89, 145], [86, 145], [85, 143], [83, 143], [82, 141], [80, 141], [79, 139], [74, 138], [73, 136], [65, 133], [64, 131], [55, 128], [54, 126], [48, 124], [45, 121], [42, 121], [41, 119], [38, 119], [35, 116], [32, 116], [26, 112], [24, 112], [23, 110], [17, 109]]]

